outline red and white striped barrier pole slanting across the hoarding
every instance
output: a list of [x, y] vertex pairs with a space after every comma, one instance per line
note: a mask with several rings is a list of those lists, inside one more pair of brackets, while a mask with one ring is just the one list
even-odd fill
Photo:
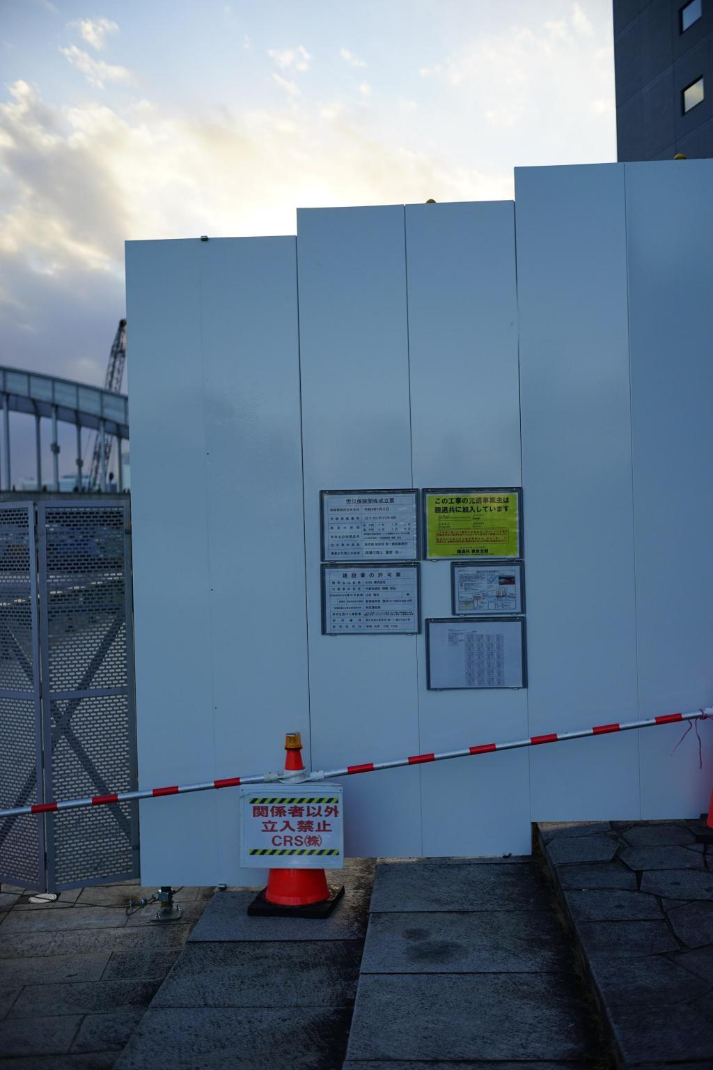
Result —
[[142, 792], [115, 792], [112, 795], [93, 795], [83, 799], [66, 799], [62, 802], [36, 802], [34, 806], [20, 806], [12, 810], [0, 810], [0, 817], [19, 817], [26, 813], [50, 813], [55, 810], [74, 810], [83, 806], [106, 806], [110, 802], [127, 802], [131, 799], [158, 798], [161, 795], [185, 795], [188, 792], [207, 792], [216, 788], [236, 788], [238, 784], [265, 784], [310, 782], [316, 780], [332, 780], [335, 777], [354, 776], [357, 773], [376, 773], [378, 769], [398, 769], [402, 765], [422, 765], [425, 762], [445, 762], [450, 758], [468, 758], [470, 754], [489, 754], [498, 750], [517, 750], [520, 747], [538, 747], [546, 743], [563, 743], [565, 739], [586, 739], [588, 736], [608, 735], [610, 732], [630, 732], [634, 729], [655, 728], [657, 724], [675, 724], [678, 721], [702, 721], [713, 717], [713, 706], [697, 709], [693, 714], [666, 714], [663, 717], [652, 717], [645, 721], [615, 721], [611, 724], [596, 724], [591, 729], [579, 729], [576, 732], [549, 732], [546, 735], [529, 736], [525, 739], [511, 739], [508, 743], [483, 743], [464, 750], [446, 750], [441, 753], [412, 754], [410, 758], [398, 758], [392, 762], [362, 762], [360, 765], [345, 765], [339, 769], [310, 773], [307, 776], [284, 776], [277, 773], [264, 773], [258, 777], [228, 777], [224, 780], [205, 780], [197, 784], [172, 784], [169, 788], [153, 788]]

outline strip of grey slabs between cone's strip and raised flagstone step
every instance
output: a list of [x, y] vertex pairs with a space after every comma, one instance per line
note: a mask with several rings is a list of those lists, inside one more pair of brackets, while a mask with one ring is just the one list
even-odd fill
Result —
[[530, 857], [376, 868], [345, 1070], [606, 1067]]

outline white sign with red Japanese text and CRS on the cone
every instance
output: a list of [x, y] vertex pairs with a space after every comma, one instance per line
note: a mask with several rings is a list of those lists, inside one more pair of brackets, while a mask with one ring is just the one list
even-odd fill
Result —
[[241, 788], [241, 863], [272, 869], [341, 869], [341, 785]]

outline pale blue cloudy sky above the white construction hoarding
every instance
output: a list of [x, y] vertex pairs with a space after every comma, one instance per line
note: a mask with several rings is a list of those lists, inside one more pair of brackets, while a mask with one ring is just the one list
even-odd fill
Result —
[[610, 0], [0, 0], [0, 363], [94, 383], [125, 239], [616, 159]]

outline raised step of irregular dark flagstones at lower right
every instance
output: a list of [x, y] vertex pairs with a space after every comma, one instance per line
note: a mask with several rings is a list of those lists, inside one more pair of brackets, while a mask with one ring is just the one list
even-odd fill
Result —
[[694, 824], [539, 826], [621, 1067], [713, 1067], [713, 846]]

